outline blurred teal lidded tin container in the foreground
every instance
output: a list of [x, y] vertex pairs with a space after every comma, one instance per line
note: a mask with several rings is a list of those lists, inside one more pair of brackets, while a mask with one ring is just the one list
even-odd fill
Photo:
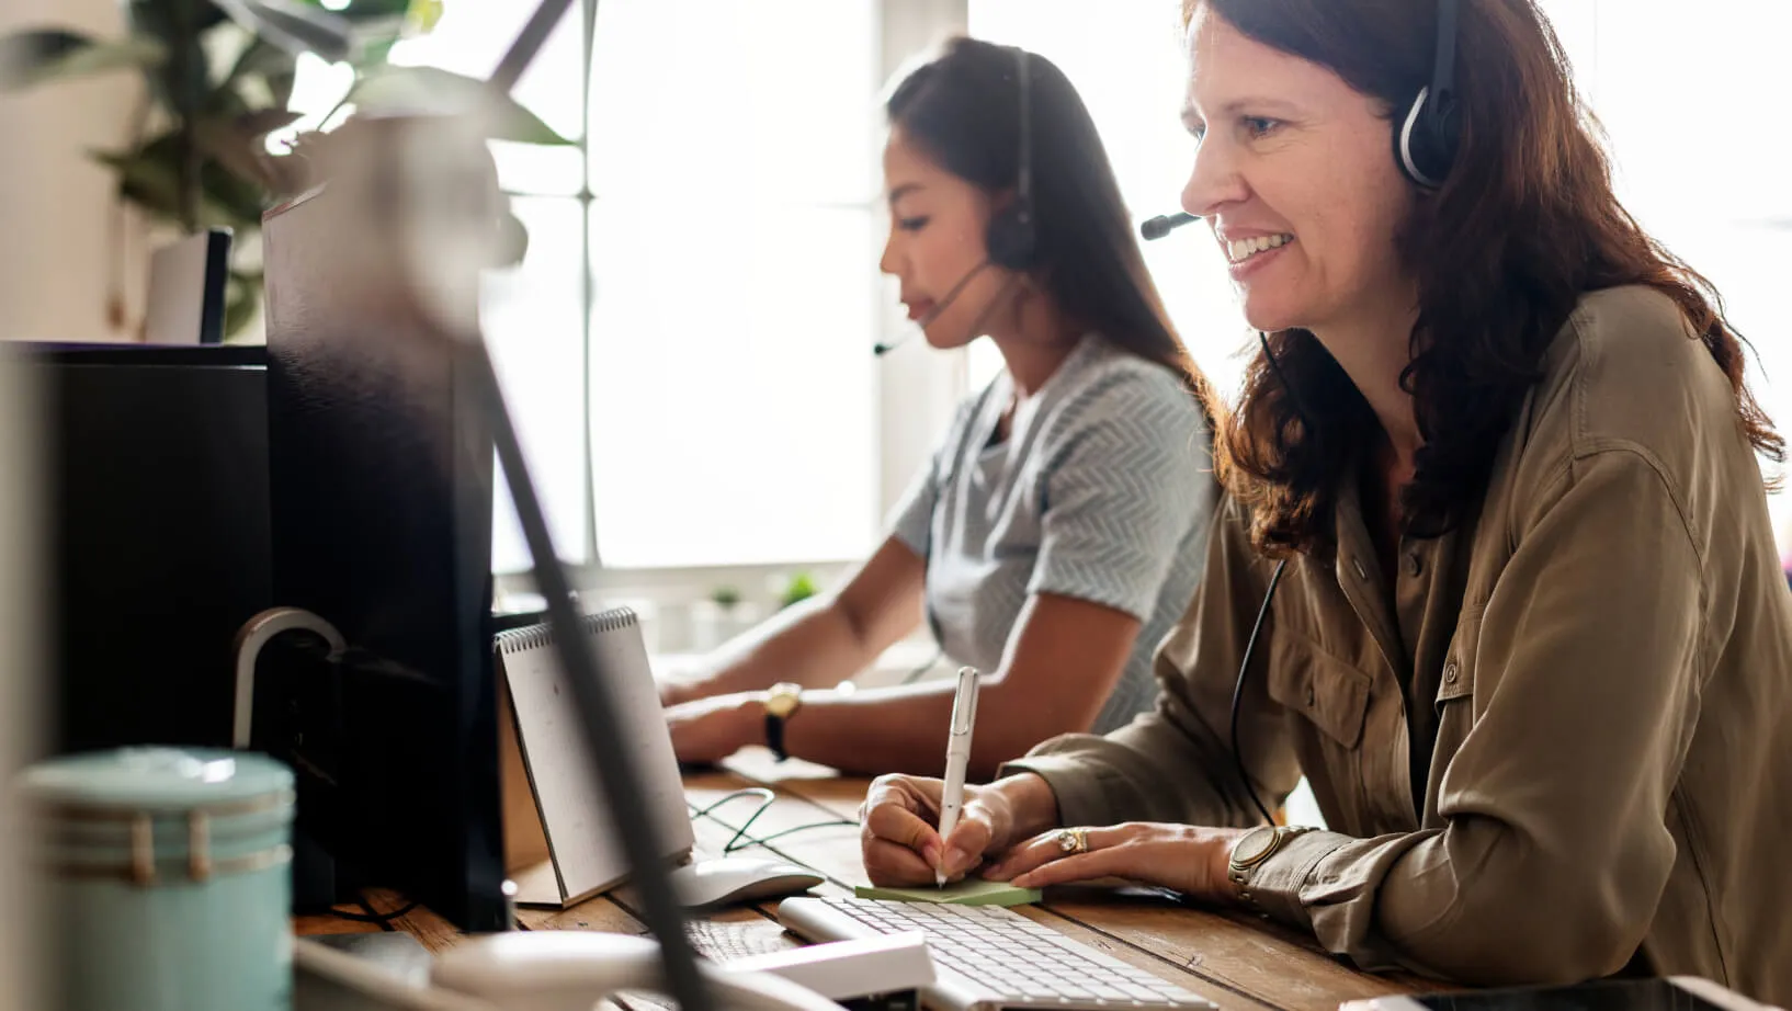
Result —
[[61, 1007], [290, 1011], [290, 769], [124, 747], [39, 762], [22, 783]]

